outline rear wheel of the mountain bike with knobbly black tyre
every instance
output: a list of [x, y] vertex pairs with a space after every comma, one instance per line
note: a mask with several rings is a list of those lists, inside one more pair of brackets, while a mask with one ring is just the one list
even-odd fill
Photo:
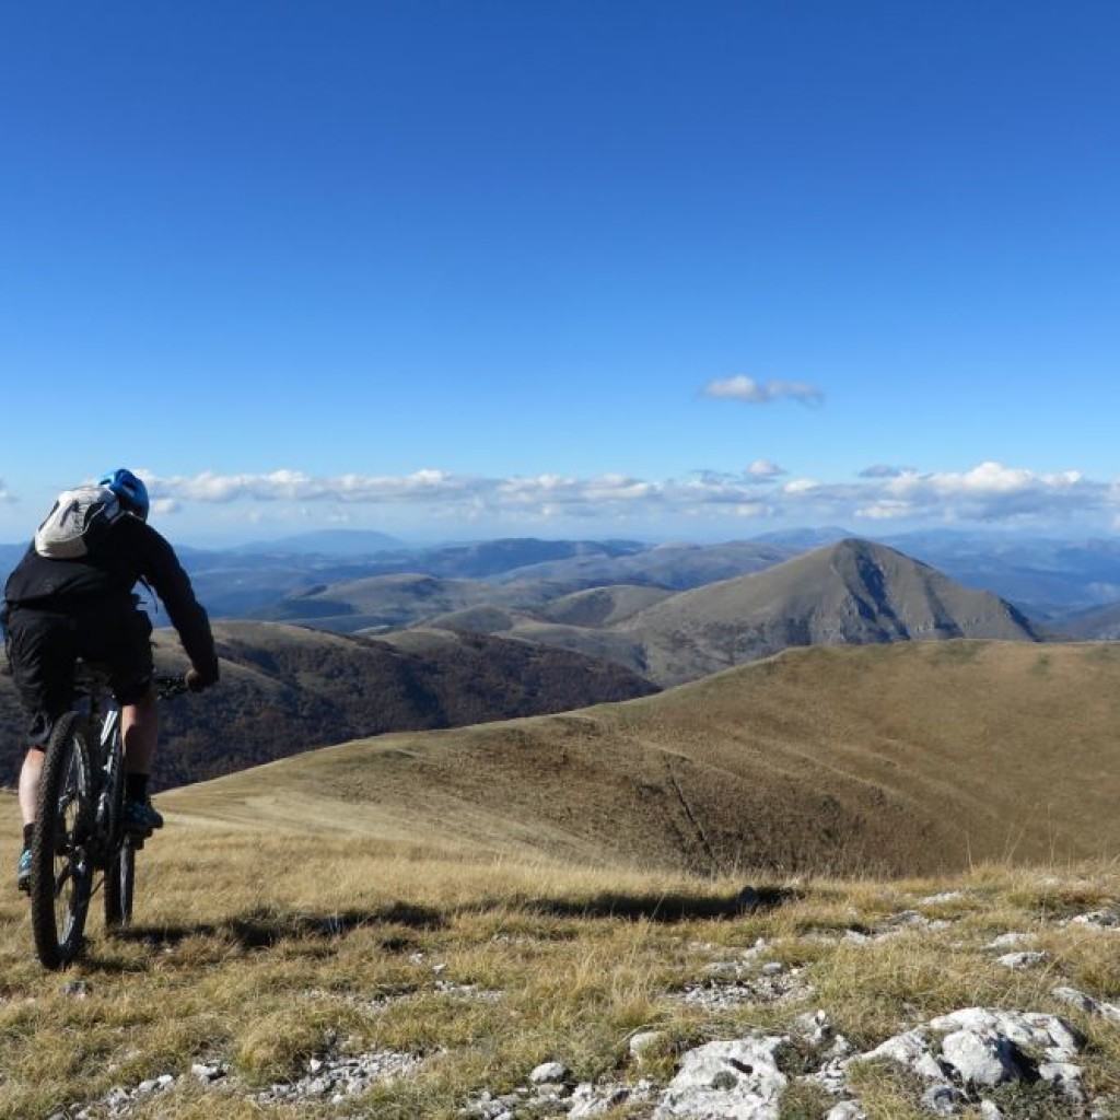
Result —
[[82, 948], [93, 886], [88, 842], [96, 809], [88, 730], [68, 712], [43, 762], [31, 839], [31, 930], [45, 968], [65, 968]]

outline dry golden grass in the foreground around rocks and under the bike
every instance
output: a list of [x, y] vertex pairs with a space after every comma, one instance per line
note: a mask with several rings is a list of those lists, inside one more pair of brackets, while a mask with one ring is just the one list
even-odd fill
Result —
[[[0, 839], [13, 851], [17, 836], [6, 797]], [[175, 1085], [134, 1116], [451, 1120], [483, 1090], [524, 1085], [547, 1060], [584, 1081], [664, 1083], [688, 1046], [785, 1030], [803, 1010], [825, 1009], [864, 1047], [977, 1004], [1061, 1010], [1089, 1038], [1093, 1091], [1120, 1089], [1118, 1028], [1051, 995], [1070, 983], [1120, 999], [1120, 935], [1060, 924], [1116, 904], [1112, 865], [893, 880], [760, 875], [763, 905], [739, 913], [744, 877], [439, 855], [298, 823], [280, 833], [171, 819], [140, 858], [132, 930], [106, 939], [94, 913], [87, 952], [66, 973], [35, 961], [25, 900], [11, 887], [0, 898], [0, 1116], [47, 1117], [171, 1074]], [[949, 888], [959, 894], [928, 900]], [[844, 936], [915, 908], [950, 924], [860, 945]], [[1046, 967], [996, 965], [983, 946], [1008, 931], [1035, 933]], [[681, 998], [758, 939], [759, 962], [800, 970], [812, 995], [726, 1007]], [[67, 992], [75, 981], [84, 995]], [[628, 1043], [651, 1028], [665, 1038], [638, 1071]], [[422, 1062], [342, 1111], [251, 1095], [302, 1076], [312, 1057], [380, 1049]], [[204, 1090], [190, 1066], [217, 1060], [231, 1074]], [[870, 1116], [912, 1114], [904, 1080], [878, 1067], [859, 1076]], [[799, 1084], [783, 1120], [820, 1117], [820, 1103]]]

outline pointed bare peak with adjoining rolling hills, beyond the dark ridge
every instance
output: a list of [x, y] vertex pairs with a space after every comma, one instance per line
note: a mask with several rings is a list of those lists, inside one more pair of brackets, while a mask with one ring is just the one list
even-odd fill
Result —
[[[721, 553], [726, 556], [726, 553]], [[660, 557], [662, 571], [696, 571]], [[496, 582], [428, 576], [376, 576], [290, 596], [307, 624], [377, 629], [422, 626], [559, 646], [622, 665], [661, 684], [679, 684], [791, 645], [867, 644], [945, 637], [1038, 641], [1015, 607], [955, 584], [933, 568], [868, 541], [843, 540], [775, 562], [766, 549], [738, 551], [762, 570], [673, 592], [624, 584], [550, 598], [571, 586], [571, 564], [545, 577]], [[626, 558], [627, 561], [634, 558]], [[631, 573], [631, 564], [626, 566]], [[706, 567], [706, 570], [710, 568]], [[575, 580], [578, 582], [578, 580]], [[321, 614], [320, 614], [321, 612]]]

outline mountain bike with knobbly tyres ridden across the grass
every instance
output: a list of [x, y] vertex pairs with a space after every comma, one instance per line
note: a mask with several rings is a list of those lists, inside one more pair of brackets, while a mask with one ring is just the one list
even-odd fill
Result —
[[[187, 691], [183, 676], [156, 681], [166, 700]], [[99, 888], [105, 928], [132, 918], [136, 853], [143, 839], [124, 832], [121, 709], [105, 669], [80, 662], [74, 708], [55, 725], [43, 760], [31, 838], [31, 931], [43, 965], [62, 969], [82, 949]]]

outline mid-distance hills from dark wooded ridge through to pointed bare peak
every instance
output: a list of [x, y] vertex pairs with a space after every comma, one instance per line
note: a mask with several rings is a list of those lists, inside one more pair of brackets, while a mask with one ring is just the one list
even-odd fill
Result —
[[[772, 548], [736, 550], [738, 562], [762, 570], [683, 591], [634, 584], [567, 591], [571, 578], [551, 566], [587, 563], [576, 550], [542, 561], [550, 567], [542, 581], [374, 576], [287, 597], [305, 612], [304, 625], [218, 622], [222, 687], [168, 706], [159, 784], [360, 736], [641, 697], [788, 646], [1043, 636], [1004, 600], [885, 545], [844, 540], [776, 563]], [[697, 571], [693, 551], [663, 550], [659, 560], [683, 579]], [[668, 559], [678, 554], [684, 567]], [[633, 553], [622, 545], [617, 556]], [[317, 610], [358, 633], [315, 626]], [[165, 668], [185, 666], [170, 632], [160, 632], [158, 651]], [[21, 722], [10, 680], [0, 680], [9, 741]], [[16, 754], [0, 781], [12, 781]]]

